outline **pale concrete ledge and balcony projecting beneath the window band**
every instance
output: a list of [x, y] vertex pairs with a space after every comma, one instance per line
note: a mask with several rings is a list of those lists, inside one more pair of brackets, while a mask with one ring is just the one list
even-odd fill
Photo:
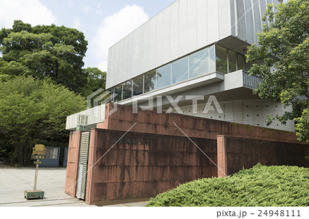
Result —
[[[207, 76], [196, 78], [187, 82], [171, 85], [164, 89], [145, 93], [131, 97], [127, 100], [117, 102], [122, 105], [133, 105], [133, 102], [137, 102], [140, 105], [144, 103], [148, 105], [151, 99], [154, 104], [154, 108], [157, 105], [161, 105], [163, 108], [170, 105], [170, 101], [165, 97], [170, 95], [173, 100], [176, 100], [177, 96], [182, 96], [179, 100], [179, 106], [192, 103], [192, 100], [187, 100], [187, 95], [195, 96], [209, 96], [216, 95], [217, 100], [249, 100], [257, 99], [258, 95], [253, 95], [253, 89], [258, 87], [258, 83], [262, 82], [261, 78], [256, 76], [250, 76], [248, 73], [240, 70], [232, 73], [210, 73]], [[157, 103], [157, 97], [162, 96], [162, 102]], [[160, 100], [161, 101], [161, 100]], [[207, 102], [207, 98], [204, 100]], [[203, 100], [201, 100], [203, 102]]]

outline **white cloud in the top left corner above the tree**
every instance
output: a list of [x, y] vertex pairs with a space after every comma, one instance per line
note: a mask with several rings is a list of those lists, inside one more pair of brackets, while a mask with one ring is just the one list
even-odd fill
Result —
[[39, 0], [0, 0], [0, 27], [10, 28], [14, 20], [32, 25], [50, 25], [56, 16]]

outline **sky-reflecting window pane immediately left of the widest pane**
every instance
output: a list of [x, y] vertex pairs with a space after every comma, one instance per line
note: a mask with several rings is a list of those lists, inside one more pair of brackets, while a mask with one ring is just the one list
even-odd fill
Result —
[[188, 79], [188, 57], [181, 58], [172, 63], [172, 84]]

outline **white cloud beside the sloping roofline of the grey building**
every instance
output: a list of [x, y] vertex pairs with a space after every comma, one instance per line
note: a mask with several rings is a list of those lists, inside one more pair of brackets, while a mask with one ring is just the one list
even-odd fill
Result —
[[[126, 5], [119, 12], [107, 16], [98, 27], [97, 34], [93, 38], [100, 50], [108, 54], [108, 48], [117, 43], [124, 36], [130, 34], [141, 24], [148, 21], [148, 14], [138, 5]], [[107, 69], [107, 58], [102, 52], [96, 49], [96, 56], [100, 58], [97, 67], [102, 71]], [[117, 63], [116, 63], [117, 64]]]

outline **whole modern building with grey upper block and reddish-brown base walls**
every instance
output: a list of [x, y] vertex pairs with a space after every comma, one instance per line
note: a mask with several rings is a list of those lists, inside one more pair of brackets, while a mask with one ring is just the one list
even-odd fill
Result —
[[245, 63], [266, 3], [278, 2], [176, 0], [113, 45], [111, 103], [67, 117], [67, 194], [103, 205], [258, 162], [308, 166], [292, 121], [265, 128], [289, 109], [253, 95], [262, 78]]

